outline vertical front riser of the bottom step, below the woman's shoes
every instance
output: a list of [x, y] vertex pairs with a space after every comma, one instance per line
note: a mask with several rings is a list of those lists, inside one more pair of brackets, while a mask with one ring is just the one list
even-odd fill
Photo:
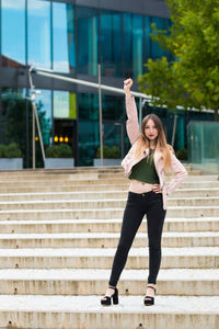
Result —
[[[99, 298], [100, 299], [100, 298]], [[96, 300], [96, 303], [100, 300]], [[101, 305], [100, 305], [101, 307]], [[139, 307], [143, 307], [142, 300]], [[69, 306], [70, 308], [70, 306]], [[1, 311], [0, 322], [8, 326], [9, 321], [23, 328], [46, 328], [46, 329], [191, 329], [198, 324], [199, 329], [216, 329], [219, 324], [218, 314], [195, 314], [195, 313], [106, 313], [100, 308], [96, 311]], [[145, 309], [145, 308], [143, 308]], [[147, 309], [148, 310], [148, 309]], [[114, 310], [115, 311], [115, 310]], [[130, 325], [131, 324], [131, 325]], [[99, 327], [96, 327], [99, 326]], [[10, 328], [10, 327], [9, 327]], [[13, 328], [13, 327], [12, 327]], [[16, 328], [16, 327], [15, 327]]]

